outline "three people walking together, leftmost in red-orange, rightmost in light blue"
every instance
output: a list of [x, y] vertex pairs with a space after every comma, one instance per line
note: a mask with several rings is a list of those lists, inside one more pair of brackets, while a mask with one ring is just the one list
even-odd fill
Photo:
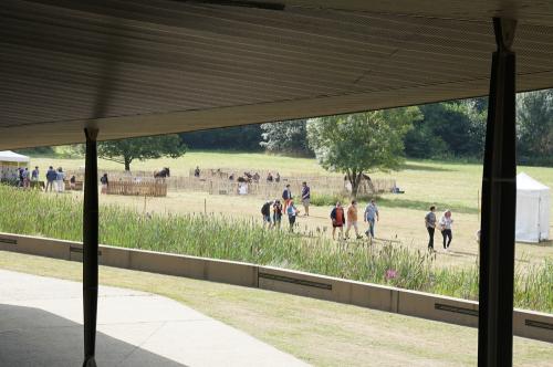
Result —
[[[344, 208], [342, 207], [342, 203], [340, 201], [336, 202], [336, 206], [331, 211], [331, 220], [333, 240], [336, 238], [336, 229], [338, 229], [340, 231], [338, 239], [344, 238], [344, 226], [346, 227], [345, 239], [349, 239], [349, 231], [352, 230], [352, 228], [354, 229], [357, 239], [363, 238], [359, 234], [356, 200], [352, 200], [346, 211], [344, 211]], [[369, 239], [375, 238], [375, 227], [378, 220], [378, 207], [376, 206], [375, 200], [371, 200], [371, 202], [365, 208], [365, 212], [363, 213], [363, 222], [368, 223], [368, 229], [365, 231], [365, 234]]]

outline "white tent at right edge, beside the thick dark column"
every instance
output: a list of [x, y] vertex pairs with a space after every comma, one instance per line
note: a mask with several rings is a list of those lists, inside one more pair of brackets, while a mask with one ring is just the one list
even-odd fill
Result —
[[517, 176], [517, 230], [520, 242], [540, 242], [550, 234], [550, 188], [522, 172]]

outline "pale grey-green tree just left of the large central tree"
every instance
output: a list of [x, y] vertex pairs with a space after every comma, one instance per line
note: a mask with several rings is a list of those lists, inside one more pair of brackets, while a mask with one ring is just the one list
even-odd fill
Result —
[[260, 143], [268, 151], [313, 156], [307, 144], [307, 120], [293, 119], [261, 125]]

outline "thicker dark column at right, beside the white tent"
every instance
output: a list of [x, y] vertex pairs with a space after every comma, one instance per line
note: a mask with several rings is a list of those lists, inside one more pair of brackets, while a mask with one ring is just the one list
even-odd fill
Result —
[[512, 366], [517, 206], [514, 52], [517, 22], [493, 19], [493, 53], [482, 179], [478, 365]]

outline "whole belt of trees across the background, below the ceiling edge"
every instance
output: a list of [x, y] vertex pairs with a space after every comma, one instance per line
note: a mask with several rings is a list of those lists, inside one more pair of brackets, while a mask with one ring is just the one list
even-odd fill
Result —
[[[127, 170], [135, 159], [178, 157], [189, 148], [265, 150], [321, 160], [324, 150], [321, 141], [327, 137], [340, 143], [340, 147], [325, 154], [335, 154], [343, 159], [347, 159], [346, 153], [351, 150], [375, 155], [378, 151], [375, 147], [388, 144], [387, 150], [398, 159], [481, 160], [487, 113], [486, 97], [449, 101], [324, 118], [104, 141], [98, 145], [98, 155], [124, 164]], [[328, 132], [325, 124], [330, 126]], [[52, 148], [48, 147], [23, 150], [42, 155], [51, 151]], [[517, 155], [520, 164], [553, 166], [553, 90], [517, 95]]]

